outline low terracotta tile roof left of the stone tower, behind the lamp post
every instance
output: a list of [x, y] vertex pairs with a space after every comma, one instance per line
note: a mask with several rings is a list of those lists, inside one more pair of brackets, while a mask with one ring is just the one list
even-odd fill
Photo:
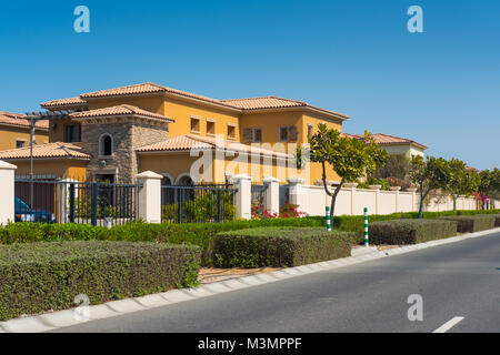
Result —
[[[0, 159], [2, 160], [17, 160], [29, 159], [30, 148], [23, 146], [20, 149], [12, 149], [0, 152]], [[84, 153], [80, 146], [70, 143], [46, 143], [33, 145], [33, 158], [58, 158], [58, 159], [76, 159], [76, 160], [90, 160], [90, 155]]]

